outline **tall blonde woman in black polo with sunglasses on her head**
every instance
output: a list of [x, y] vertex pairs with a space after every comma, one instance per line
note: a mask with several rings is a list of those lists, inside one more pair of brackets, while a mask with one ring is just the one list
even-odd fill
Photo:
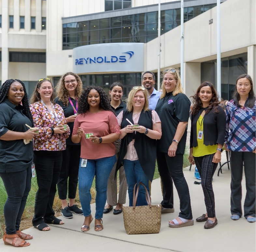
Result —
[[174, 182], [180, 199], [180, 213], [176, 219], [169, 221], [169, 226], [191, 226], [194, 221], [189, 188], [182, 170], [191, 102], [183, 93], [178, 69], [164, 70], [162, 90], [156, 106], [156, 112], [162, 121], [162, 138], [157, 141], [156, 154], [163, 184], [162, 213], [174, 212]]

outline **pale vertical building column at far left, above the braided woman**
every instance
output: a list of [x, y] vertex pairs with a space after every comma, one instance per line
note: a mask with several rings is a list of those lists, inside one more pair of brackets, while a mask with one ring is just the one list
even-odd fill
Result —
[[8, 52], [8, 0], [2, 0], [2, 84], [8, 79], [9, 52]]

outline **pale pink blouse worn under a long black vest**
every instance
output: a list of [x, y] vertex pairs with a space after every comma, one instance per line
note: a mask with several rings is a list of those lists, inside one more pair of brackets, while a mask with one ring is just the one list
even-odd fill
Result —
[[[139, 117], [140, 117], [140, 113], [137, 113], [137, 114], [133, 114], [133, 122], [134, 123], [138, 123], [139, 121]], [[119, 115], [117, 116], [117, 120], [118, 120], [118, 124], [119, 126], [121, 126], [121, 122], [123, 120], [123, 111], [121, 111], [119, 113]], [[155, 110], [152, 110], [152, 123], [155, 124], [157, 122], [160, 122], [161, 123], [161, 120], [158, 116], [158, 114], [156, 113]], [[136, 132], [135, 132], [136, 134]], [[134, 141], [135, 139], [133, 139], [133, 141], [131, 141], [127, 147], [127, 152], [126, 152], [126, 155], [123, 159], [128, 159], [128, 160], [131, 160], [131, 161], [134, 161], [134, 160], [138, 160], [138, 155], [137, 155], [137, 152], [135, 150], [135, 147], [134, 147]]]

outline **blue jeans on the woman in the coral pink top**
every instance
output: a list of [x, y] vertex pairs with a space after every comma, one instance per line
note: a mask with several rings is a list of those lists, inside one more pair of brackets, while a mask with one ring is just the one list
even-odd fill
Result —
[[107, 182], [110, 172], [116, 162], [116, 155], [107, 158], [88, 159], [86, 167], [81, 167], [81, 158], [78, 172], [78, 190], [83, 214], [85, 217], [91, 214], [91, 187], [95, 176], [96, 187], [96, 213], [95, 219], [103, 217], [103, 211], [107, 200]]

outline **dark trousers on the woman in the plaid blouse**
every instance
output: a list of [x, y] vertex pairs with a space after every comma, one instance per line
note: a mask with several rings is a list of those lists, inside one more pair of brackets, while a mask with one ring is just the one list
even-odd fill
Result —
[[231, 213], [240, 217], [242, 212], [243, 163], [245, 171], [246, 196], [244, 217], [255, 217], [255, 153], [249, 151], [231, 151]]

